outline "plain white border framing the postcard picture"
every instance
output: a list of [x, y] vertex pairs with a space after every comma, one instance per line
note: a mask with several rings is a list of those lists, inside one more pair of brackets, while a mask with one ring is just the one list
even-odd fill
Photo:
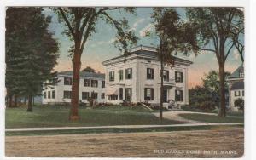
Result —
[[[246, 16], [246, 55], [245, 55], [245, 155], [241, 159], [256, 159], [255, 151], [253, 153], [253, 146], [255, 150], [255, 130], [256, 120], [253, 114], [256, 113], [256, 94], [253, 92], [256, 89], [256, 53], [253, 51], [256, 45], [256, 26], [255, 26], [255, 7], [256, 2], [252, 0], [1, 0], [0, 1], [0, 159], [27, 159], [26, 157], [4, 157], [4, 95], [5, 95], [5, 49], [4, 49], [4, 19], [5, 9], [7, 6], [136, 6], [136, 7], [244, 7]], [[33, 159], [33, 158], [29, 158]], [[49, 159], [49, 158], [35, 158], [35, 159]], [[50, 158], [52, 159], [52, 158]], [[55, 158], [55, 159], [69, 159], [69, 158]], [[81, 158], [74, 158], [81, 159]], [[90, 158], [98, 159], [98, 158]], [[106, 159], [106, 158], [104, 158]], [[108, 158], [107, 158], [108, 159]], [[154, 158], [162, 159], [162, 158]], [[172, 158], [177, 159], [177, 158]], [[183, 159], [183, 158], [179, 158]], [[197, 159], [197, 158], [195, 158]], [[211, 158], [214, 159], [214, 158]], [[219, 158], [217, 158], [219, 159]], [[229, 158], [230, 159], [230, 158]], [[236, 158], [237, 159], [237, 158]]]

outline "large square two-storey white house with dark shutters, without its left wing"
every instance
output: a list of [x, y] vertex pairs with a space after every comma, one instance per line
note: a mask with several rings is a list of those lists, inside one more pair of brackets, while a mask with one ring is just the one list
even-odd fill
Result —
[[[189, 60], [174, 57], [174, 67], [164, 67], [164, 103], [175, 100], [189, 104]], [[129, 55], [120, 55], [102, 62], [106, 69], [106, 101], [119, 104], [123, 100], [133, 103], [160, 103], [160, 60], [156, 49], [139, 46]]]

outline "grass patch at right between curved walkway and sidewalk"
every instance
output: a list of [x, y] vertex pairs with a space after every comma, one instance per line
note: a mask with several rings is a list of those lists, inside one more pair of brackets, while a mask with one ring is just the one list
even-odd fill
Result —
[[215, 115], [204, 115], [196, 113], [184, 113], [179, 116], [189, 120], [201, 121], [206, 123], [244, 123], [243, 117], [218, 117]]

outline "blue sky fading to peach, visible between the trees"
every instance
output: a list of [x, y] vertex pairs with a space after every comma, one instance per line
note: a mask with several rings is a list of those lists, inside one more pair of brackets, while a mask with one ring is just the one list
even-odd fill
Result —
[[[182, 18], [185, 18], [184, 8], [177, 8], [178, 14]], [[135, 31], [136, 36], [139, 38], [137, 45], [145, 45], [155, 47], [158, 44], [157, 37], [145, 37], [146, 31], [154, 31], [153, 21], [150, 18], [152, 8], [137, 8], [136, 15], [120, 13], [118, 10], [109, 11], [109, 14], [113, 18], [121, 19], [125, 17], [131, 30]], [[66, 35], [62, 34], [64, 24], [59, 23], [57, 15], [49, 8], [44, 8], [44, 14], [52, 16], [52, 21], [49, 24], [49, 31], [54, 33], [54, 37], [60, 43], [60, 58], [58, 64], [55, 66], [55, 71], [71, 71], [72, 62], [68, 56], [69, 47], [73, 44]], [[111, 59], [120, 55], [119, 49], [115, 48], [113, 41], [115, 38], [116, 30], [113, 26], [106, 24], [103, 20], [98, 20], [96, 23], [96, 33], [94, 33], [87, 41], [84, 47], [84, 52], [81, 57], [82, 66], [81, 69], [86, 66], [94, 68], [97, 72], [105, 73], [102, 61]], [[189, 56], [183, 56], [183, 54], [177, 54], [177, 56], [190, 60], [193, 62], [189, 66], [189, 88], [193, 88], [196, 85], [201, 85], [201, 78], [211, 70], [218, 71], [218, 61], [216, 55], [210, 52], [201, 52], [195, 56], [195, 54], [189, 54]], [[226, 60], [226, 71], [235, 71], [238, 66], [241, 65], [240, 55], [233, 49]]]

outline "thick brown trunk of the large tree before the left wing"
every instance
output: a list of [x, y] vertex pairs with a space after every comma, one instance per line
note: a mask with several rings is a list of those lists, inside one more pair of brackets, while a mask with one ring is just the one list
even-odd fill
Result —
[[78, 51], [75, 51], [73, 56], [73, 83], [72, 83], [72, 97], [71, 97], [71, 111], [70, 120], [79, 119], [79, 80], [80, 80], [80, 68], [81, 60]]

